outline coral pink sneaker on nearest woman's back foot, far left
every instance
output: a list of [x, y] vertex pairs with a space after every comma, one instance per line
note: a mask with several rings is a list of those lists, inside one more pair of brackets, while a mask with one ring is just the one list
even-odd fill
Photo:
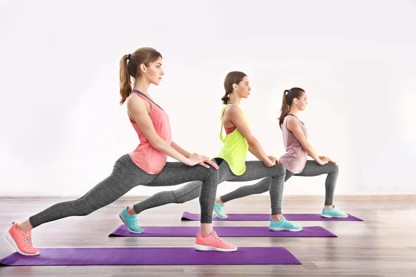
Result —
[[13, 222], [9, 231], [6, 232], [7, 240], [15, 247], [16, 251], [24, 256], [36, 256], [39, 255], [39, 250], [35, 249], [32, 245], [32, 232], [17, 231], [17, 225]]

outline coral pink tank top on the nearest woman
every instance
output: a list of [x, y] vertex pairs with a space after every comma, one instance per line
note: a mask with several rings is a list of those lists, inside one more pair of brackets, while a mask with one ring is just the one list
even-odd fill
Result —
[[[169, 118], [166, 112], [140, 91], [133, 90], [132, 93], [130, 93], [129, 97], [132, 97], [132, 95], [134, 94], [150, 103], [151, 110], [149, 116], [152, 120], [153, 127], [155, 127], [157, 134], [162, 139], [164, 139], [164, 141], [171, 144], [171, 124], [169, 123]], [[168, 156], [163, 152], [156, 150], [155, 148], [153, 148], [152, 145], [150, 145], [150, 142], [148, 141], [144, 133], [141, 132], [141, 129], [139, 128], [137, 123], [133, 122], [131, 118], [130, 123], [132, 123], [133, 128], [135, 128], [135, 131], [137, 132], [137, 135], [139, 136], [140, 140], [140, 143], [137, 146], [137, 148], [133, 152], [128, 153], [130, 155], [130, 158], [137, 166], [139, 166], [139, 168], [141, 168], [149, 174], [157, 174], [161, 172], [166, 164], [166, 159], [168, 158]]]

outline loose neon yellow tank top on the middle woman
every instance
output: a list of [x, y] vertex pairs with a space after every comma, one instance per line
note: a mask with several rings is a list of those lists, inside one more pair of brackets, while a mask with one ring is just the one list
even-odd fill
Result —
[[[221, 158], [224, 161], [227, 161], [231, 171], [239, 176], [243, 175], [245, 172], [245, 159], [247, 158], [248, 152], [248, 143], [245, 140], [245, 137], [239, 132], [238, 129], [235, 129], [233, 132], [227, 134], [225, 139], [223, 138], [223, 116], [225, 109], [232, 104], [226, 105], [221, 111], [221, 130], [220, 130], [220, 140], [223, 141], [224, 146], [220, 154], [216, 158]], [[243, 110], [241, 110], [243, 112]], [[245, 123], [248, 124], [248, 120], [243, 113]]]

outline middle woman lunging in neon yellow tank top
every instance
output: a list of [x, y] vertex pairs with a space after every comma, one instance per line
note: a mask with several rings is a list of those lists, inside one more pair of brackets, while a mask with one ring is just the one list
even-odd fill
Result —
[[[242, 98], [250, 96], [250, 84], [247, 75], [239, 71], [227, 74], [224, 82], [225, 96], [220, 119], [220, 139], [224, 142], [223, 149], [214, 158], [219, 166], [219, 181], [252, 181], [268, 177], [271, 202], [270, 231], [301, 231], [300, 226], [288, 222], [281, 213], [281, 198], [283, 195], [286, 167], [277, 159], [268, 156], [259, 141], [250, 132], [248, 120], [239, 107]], [[227, 135], [223, 136], [223, 127]], [[248, 151], [252, 152], [260, 161], [245, 161]], [[178, 190], [157, 193], [142, 202], [139, 202], [137, 210], [141, 213], [148, 208], [154, 208], [169, 203], [184, 203], [200, 196], [200, 181], [192, 181]], [[215, 202], [216, 191], [209, 193], [207, 202]], [[218, 217], [221, 205], [215, 203], [214, 212]], [[146, 230], [145, 230], [146, 231]], [[219, 234], [220, 235], [220, 234]], [[196, 249], [209, 250], [198, 244]], [[211, 249], [215, 250], [215, 249]]]

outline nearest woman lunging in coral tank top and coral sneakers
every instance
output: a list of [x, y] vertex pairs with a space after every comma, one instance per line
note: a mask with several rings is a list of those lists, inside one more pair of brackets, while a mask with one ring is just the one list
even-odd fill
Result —
[[[139, 145], [120, 157], [111, 175], [83, 197], [55, 204], [24, 222], [12, 224], [6, 238], [18, 253], [25, 256], [39, 254], [33, 247], [31, 230], [41, 224], [64, 217], [89, 215], [116, 201], [135, 186], [175, 186], [189, 181], [202, 181], [198, 241], [218, 251], [236, 251], [234, 245], [220, 240], [212, 229], [214, 200], [211, 199], [215, 199], [218, 185], [218, 166], [208, 157], [190, 154], [172, 141], [168, 115], [148, 92], [150, 84], [159, 85], [163, 75], [162, 55], [155, 49], [139, 48], [132, 55], [123, 55], [120, 61], [120, 103], [127, 104], [128, 118], [137, 132]], [[135, 80], [134, 87], [131, 87], [130, 78]], [[168, 156], [179, 162], [166, 162]], [[137, 204], [119, 213], [125, 227], [132, 233], [143, 232], [137, 226], [137, 213]]]

